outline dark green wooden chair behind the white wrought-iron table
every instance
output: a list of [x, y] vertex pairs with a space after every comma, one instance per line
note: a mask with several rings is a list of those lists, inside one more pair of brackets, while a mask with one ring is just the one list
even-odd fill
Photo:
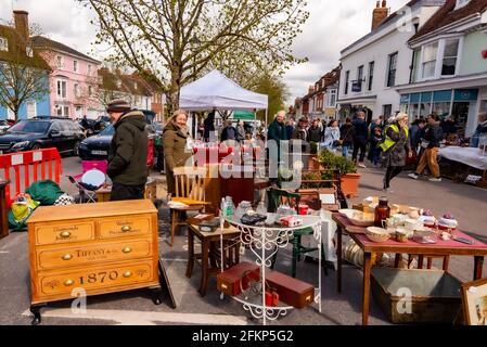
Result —
[[[298, 210], [298, 208], [299, 208], [300, 195], [297, 193], [291, 193], [285, 190], [279, 190], [279, 189], [272, 188], [269, 191], [269, 195], [270, 195], [269, 196], [270, 211], [272, 211], [272, 213], [275, 213], [277, 208], [281, 204], [287, 204], [292, 208], [295, 208], [296, 210]], [[318, 247], [308, 248], [308, 247], [303, 246], [303, 244], [302, 244], [303, 236], [312, 235], [312, 234], [313, 234], [313, 230], [311, 228], [305, 228], [302, 230], [294, 231], [294, 236], [291, 240], [291, 243], [293, 245], [293, 260], [292, 260], [291, 274], [293, 278], [296, 278], [297, 261], [300, 260], [300, 256], [305, 255], [307, 253], [316, 252], [319, 249]], [[277, 250], [279, 250], [279, 247]], [[279, 252], [275, 252], [275, 254], [272, 258], [272, 266], [271, 266], [272, 269], [274, 268], [275, 260], [278, 258], [278, 253]], [[325, 255], [324, 255], [323, 247], [321, 247], [321, 256], [324, 261]], [[323, 267], [323, 271], [328, 275], [326, 267]]]

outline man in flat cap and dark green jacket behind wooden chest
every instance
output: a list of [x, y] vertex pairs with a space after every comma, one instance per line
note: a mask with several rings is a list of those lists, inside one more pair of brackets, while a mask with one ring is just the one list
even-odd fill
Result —
[[106, 112], [115, 127], [107, 168], [113, 181], [111, 201], [141, 200], [149, 177], [144, 114], [124, 100], [112, 101]]

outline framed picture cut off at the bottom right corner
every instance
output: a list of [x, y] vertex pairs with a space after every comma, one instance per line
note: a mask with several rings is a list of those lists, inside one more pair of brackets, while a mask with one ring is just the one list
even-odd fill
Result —
[[487, 326], [487, 279], [462, 284], [466, 325]]

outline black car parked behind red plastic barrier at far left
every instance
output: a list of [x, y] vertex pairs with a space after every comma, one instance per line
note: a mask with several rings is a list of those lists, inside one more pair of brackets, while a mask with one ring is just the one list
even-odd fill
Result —
[[0, 152], [15, 153], [56, 147], [62, 154], [79, 154], [85, 140], [78, 124], [68, 118], [39, 117], [17, 121], [0, 134]]

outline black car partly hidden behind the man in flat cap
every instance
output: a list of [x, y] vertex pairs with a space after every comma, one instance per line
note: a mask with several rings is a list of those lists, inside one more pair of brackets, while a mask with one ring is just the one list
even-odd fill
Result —
[[[153, 139], [155, 137], [153, 127], [148, 125], [146, 129], [149, 138]], [[110, 145], [114, 134], [115, 128], [111, 125], [99, 134], [86, 139], [79, 145], [79, 157], [82, 160], [106, 160], [108, 158]]]

